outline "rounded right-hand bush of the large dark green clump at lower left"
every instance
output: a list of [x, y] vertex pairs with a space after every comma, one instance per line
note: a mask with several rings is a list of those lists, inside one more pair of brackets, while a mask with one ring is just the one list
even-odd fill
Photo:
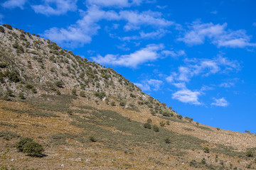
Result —
[[36, 142], [26, 142], [23, 145], [23, 153], [28, 154], [31, 157], [42, 157], [43, 147]]

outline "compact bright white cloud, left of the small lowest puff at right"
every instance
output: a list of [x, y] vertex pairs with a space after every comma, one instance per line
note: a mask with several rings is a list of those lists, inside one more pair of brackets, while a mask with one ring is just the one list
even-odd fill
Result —
[[181, 89], [180, 91], [176, 91], [172, 98], [183, 103], [191, 103], [193, 105], [201, 105], [202, 103], [198, 101], [198, 96], [201, 96], [202, 93], [200, 91], [191, 91], [189, 89]]

